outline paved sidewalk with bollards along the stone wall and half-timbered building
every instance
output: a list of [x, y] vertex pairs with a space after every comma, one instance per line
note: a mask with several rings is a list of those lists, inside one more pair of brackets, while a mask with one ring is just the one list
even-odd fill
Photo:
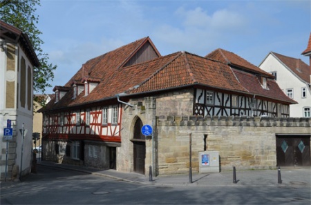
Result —
[[71, 166], [54, 162], [38, 162], [38, 166], [53, 166], [68, 170], [77, 170], [92, 175], [111, 177], [126, 182], [155, 184], [158, 186], [311, 186], [311, 168], [281, 168], [282, 183], [278, 183], [278, 170], [236, 170], [236, 181], [233, 183], [233, 172], [192, 173], [192, 183], [187, 175], [153, 176], [138, 173], [122, 173], [116, 170], [100, 170], [86, 166]]

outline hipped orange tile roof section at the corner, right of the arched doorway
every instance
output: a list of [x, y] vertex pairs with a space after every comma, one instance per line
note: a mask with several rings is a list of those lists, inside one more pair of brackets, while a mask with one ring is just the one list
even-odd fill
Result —
[[[238, 83], [232, 70], [226, 64], [193, 55], [189, 52], [177, 52], [173, 55], [173, 59], [166, 61], [163, 67], [158, 66], [158, 70], [144, 80], [138, 88], [127, 92], [140, 93], [189, 85], [247, 92]], [[157, 59], [150, 63], [158, 65], [156, 61]], [[145, 64], [140, 66], [149, 67], [149, 65]]]

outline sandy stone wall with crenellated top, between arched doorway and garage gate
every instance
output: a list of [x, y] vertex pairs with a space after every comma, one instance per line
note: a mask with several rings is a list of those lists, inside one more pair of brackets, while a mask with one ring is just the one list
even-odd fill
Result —
[[311, 135], [311, 118], [158, 116], [157, 173], [198, 172], [198, 152], [219, 151], [220, 170], [276, 167], [276, 134]]

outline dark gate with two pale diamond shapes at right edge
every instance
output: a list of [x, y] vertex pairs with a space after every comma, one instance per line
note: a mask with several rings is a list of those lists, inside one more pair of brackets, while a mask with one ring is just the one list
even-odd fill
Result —
[[310, 136], [276, 136], [277, 166], [310, 166]]

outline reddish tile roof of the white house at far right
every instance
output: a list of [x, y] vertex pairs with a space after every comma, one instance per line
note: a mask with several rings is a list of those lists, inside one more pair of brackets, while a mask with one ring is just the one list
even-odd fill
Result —
[[287, 57], [276, 52], [271, 52], [276, 59], [279, 59], [288, 69], [292, 70], [300, 79], [310, 84], [310, 66], [301, 61], [301, 59], [295, 59]]

